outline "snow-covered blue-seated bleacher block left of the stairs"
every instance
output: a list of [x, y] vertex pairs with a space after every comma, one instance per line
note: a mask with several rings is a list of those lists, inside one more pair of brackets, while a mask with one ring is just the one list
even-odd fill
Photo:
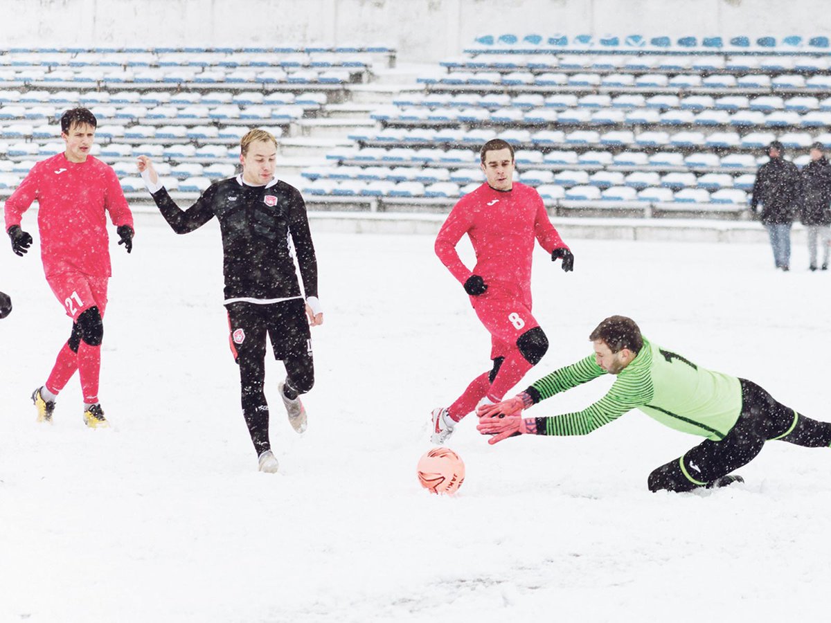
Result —
[[198, 193], [234, 173], [238, 142], [257, 126], [280, 137], [344, 99], [391, 48], [0, 48], [0, 195], [37, 159], [63, 149], [59, 119], [83, 105], [98, 120], [93, 154], [140, 191], [135, 157], [151, 155], [170, 189]]

